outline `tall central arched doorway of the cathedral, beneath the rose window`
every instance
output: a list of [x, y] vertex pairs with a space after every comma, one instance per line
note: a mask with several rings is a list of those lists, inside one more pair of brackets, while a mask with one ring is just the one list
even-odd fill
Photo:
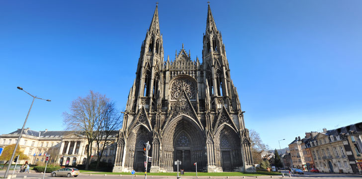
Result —
[[195, 171], [206, 167], [205, 135], [197, 123], [186, 115], [178, 116], [165, 128], [163, 137], [163, 167], [168, 171], [177, 171], [174, 162], [179, 160], [179, 170]]

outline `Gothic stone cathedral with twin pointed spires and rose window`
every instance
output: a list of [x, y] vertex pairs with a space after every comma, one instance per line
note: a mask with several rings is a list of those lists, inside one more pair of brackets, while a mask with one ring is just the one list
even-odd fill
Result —
[[119, 130], [113, 172], [253, 172], [249, 131], [210, 5], [202, 63], [183, 48], [164, 61], [158, 7], [142, 43], [136, 79]]

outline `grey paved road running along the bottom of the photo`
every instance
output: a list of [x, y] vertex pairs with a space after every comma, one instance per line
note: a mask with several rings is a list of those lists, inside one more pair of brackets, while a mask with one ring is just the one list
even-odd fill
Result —
[[[4, 176], [4, 171], [0, 171], [0, 177]], [[10, 173], [12, 174], [12, 172]], [[26, 176], [27, 179], [42, 179], [43, 174], [40, 173], [25, 173], [25, 174], [16, 174], [16, 178], [24, 178]], [[72, 177], [73, 178], [73, 177]], [[119, 175], [96, 175], [92, 174], [81, 174], [77, 177], [77, 179], [132, 179], [132, 176], [119, 176]], [[133, 179], [144, 179], [144, 176], [137, 176]], [[281, 176], [272, 176], [273, 179], [280, 179]], [[291, 174], [291, 178], [288, 175], [285, 175], [285, 179], [316, 179], [316, 178], [325, 178], [325, 179], [351, 179], [351, 178], [362, 178], [361, 175], [338, 175], [338, 174], [315, 174], [315, 173], [308, 173], [305, 172], [305, 175], [297, 175]], [[44, 179], [57, 179], [50, 176], [50, 174], [45, 174]], [[61, 178], [60, 178], [61, 179]], [[176, 179], [176, 176], [147, 176], [147, 179]], [[186, 177], [182, 176], [181, 179], [196, 179], [195, 177]], [[209, 179], [209, 177], [199, 177], [199, 179]], [[227, 177], [211, 177], [211, 179], [227, 179]], [[228, 179], [243, 179], [243, 177], [229, 177]], [[245, 177], [245, 179], [256, 179], [256, 177]], [[258, 179], [271, 179], [270, 176], [259, 176]]]

